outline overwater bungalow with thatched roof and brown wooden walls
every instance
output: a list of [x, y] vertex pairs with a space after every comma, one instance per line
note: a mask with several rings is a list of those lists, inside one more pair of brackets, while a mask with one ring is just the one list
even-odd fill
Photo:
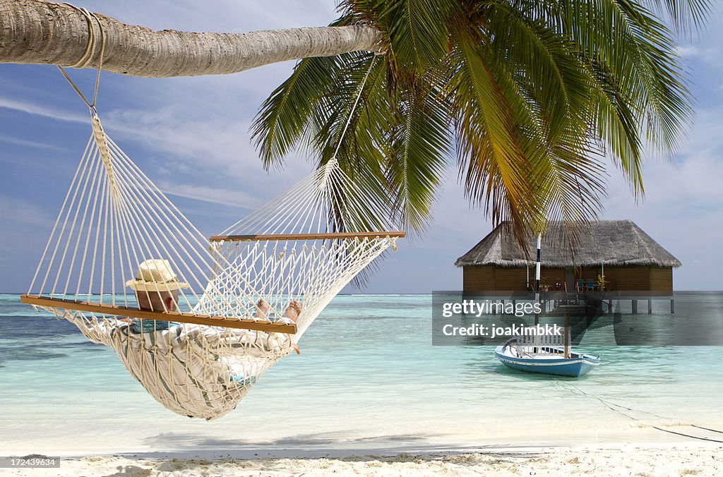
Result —
[[[592, 223], [574, 252], [563, 245], [563, 236], [562, 223], [551, 223], [542, 239], [543, 290], [672, 293], [680, 261], [631, 220]], [[526, 243], [525, 253], [508, 223], [498, 225], [455, 262], [463, 269], [463, 290], [531, 290], [535, 237]]]

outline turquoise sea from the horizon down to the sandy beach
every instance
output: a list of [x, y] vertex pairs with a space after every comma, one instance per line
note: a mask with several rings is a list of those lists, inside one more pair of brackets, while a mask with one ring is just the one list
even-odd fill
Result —
[[[703, 313], [720, 332], [721, 294], [679, 296], [675, 315], [666, 307], [653, 315], [661, 328]], [[205, 422], [166, 411], [73, 325], [0, 295], [0, 452], [323, 455], [680, 441], [652, 426], [723, 429], [722, 346], [612, 346], [612, 327], [601, 327], [580, 347], [601, 366], [571, 380], [510, 371], [489, 346], [432, 346], [431, 330], [431, 296], [338, 296], [301, 338], [301, 356]]]

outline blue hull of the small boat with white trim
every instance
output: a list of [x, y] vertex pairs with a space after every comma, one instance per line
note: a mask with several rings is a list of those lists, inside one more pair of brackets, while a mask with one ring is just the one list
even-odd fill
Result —
[[513, 356], [507, 343], [495, 348], [495, 356], [505, 366], [517, 371], [537, 374], [552, 374], [555, 376], [580, 377], [600, 364], [600, 358], [588, 354], [575, 353], [573, 357], [557, 358], [554, 353], [549, 356], [523, 358]]

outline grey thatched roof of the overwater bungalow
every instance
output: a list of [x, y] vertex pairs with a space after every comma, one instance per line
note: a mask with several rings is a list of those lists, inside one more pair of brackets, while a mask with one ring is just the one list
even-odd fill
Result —
[[[651, 239], [631, 220], [600, 220], [581, 233], [575, 256], [572, 247], [563, 245], [562, 223], [550, 223], [542, 237], [543, 267], [588, 267], [595, 265], [656, 265], [680, 267], [680, 262]], [[507, 223], [497, 225], [479, 244], [457, 259], [455, 265], [497, 265], [524, 267], [533, 265], [536, 237], [527, 239], [525, 254], [515, 241]]]

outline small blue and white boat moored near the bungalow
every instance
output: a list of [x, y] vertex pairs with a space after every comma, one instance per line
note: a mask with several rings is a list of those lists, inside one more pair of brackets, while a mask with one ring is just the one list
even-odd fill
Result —
[[497, 346], [495, 356], [505, 366], [518, 371], [568, 377], [580, 377], [600, 364], [599, 356], [569, 350], [565, 356], [565, 347], [530, 345], [519, 338], [510, 338]]

